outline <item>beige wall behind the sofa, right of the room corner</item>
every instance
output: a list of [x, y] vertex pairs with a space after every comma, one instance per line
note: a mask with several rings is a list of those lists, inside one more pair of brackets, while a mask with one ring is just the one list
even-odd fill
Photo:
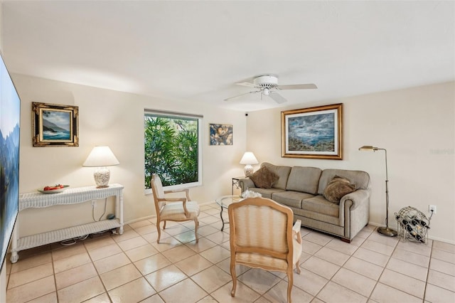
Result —
[[[343, 161], [281, 157], [281, 111], [343, 103]], [[428, 216], [437, 206], [429, 237], [455, 243], [455, 83], [250, 112], [247, 149], [260, 161], [321, 169], [360, 169], [371, 177], [370, 223], [385, 224], [383, 151], [358, 151], [363, 145], [387, 149], [390, 226], [393, 214], [412, 206]]]

